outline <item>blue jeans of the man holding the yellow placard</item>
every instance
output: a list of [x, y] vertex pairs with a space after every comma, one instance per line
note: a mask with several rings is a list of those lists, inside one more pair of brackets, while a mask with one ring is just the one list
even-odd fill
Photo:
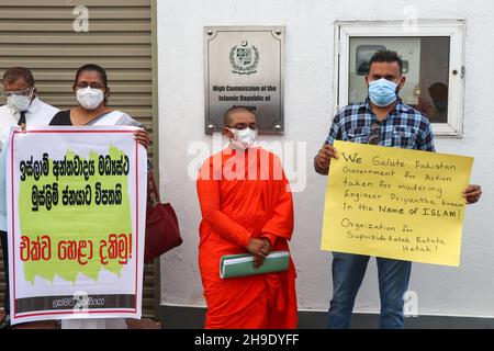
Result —
[[[377, 258], [382, 329], [403, 328], [403, 294], [408, 288], [412, 262]], [[369, 256], [333, 252], [333, 299], [327, 326], [330, 329], [350, 328], [355, 298], [366, 274]]]

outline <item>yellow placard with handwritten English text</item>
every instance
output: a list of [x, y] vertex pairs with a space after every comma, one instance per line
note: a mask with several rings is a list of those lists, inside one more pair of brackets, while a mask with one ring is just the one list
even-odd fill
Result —
[[322, 250], [460, 265], [473, 158], [336, 140]]

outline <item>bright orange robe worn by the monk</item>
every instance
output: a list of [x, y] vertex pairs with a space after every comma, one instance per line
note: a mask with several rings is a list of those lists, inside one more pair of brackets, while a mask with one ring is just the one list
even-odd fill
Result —
[[222, 280], [220, 259], [246, 253], [249, 238], [289, 250], [293, 203], [277, 156], [255, 147], [210, 157], [198, 177], [202, 212], [199, 265], [207, 303], [205, 328], [296, 328], [295, 268]]

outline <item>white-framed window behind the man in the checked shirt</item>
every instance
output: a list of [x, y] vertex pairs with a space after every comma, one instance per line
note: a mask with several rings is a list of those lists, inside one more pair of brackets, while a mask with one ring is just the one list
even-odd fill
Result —
[[402, 101], [426, 114], [436, 135], [461, 137], [463, 111], [462, 21], [415, 23], [339, 22], [336, 107], [368, 97], [364, 77], [379, 50], [394, 50], [406, 77]]

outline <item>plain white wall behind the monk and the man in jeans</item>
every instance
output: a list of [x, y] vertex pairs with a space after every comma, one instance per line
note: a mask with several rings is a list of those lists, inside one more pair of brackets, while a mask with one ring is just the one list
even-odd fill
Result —
[[[358, 4], [357, 4], [358, 3]], [[330, 297], [330, 254], [319, 251], [326, 178], [312, 168], [333, 114], [335, 21], [402, 20], [414, 5], [420, 19], [465, 19], [465, 101], [462, 139], [437, 139], [438, 151], [475, 157], [473, 183], [482, 202], [464, 222], [461, 267], [414, 264], [409, 288], [419, 314], [494, 316], [494, 2], [405, 0], [159, 0], [160, 191], [175, 206], [184, 244], [161, 259], [165, 305], [204, 306], [198, 268], [200, 211], [188, 177], [192, 141], [212, 138], [204, 129], [203, 26], [285, 25], [285, 134], [271, 139], [307, 141], [307, 184], [294, 194], [301, 309], [325, 310]], [[370, 262], [357, 312], [379, 312], [375, 261]]]

